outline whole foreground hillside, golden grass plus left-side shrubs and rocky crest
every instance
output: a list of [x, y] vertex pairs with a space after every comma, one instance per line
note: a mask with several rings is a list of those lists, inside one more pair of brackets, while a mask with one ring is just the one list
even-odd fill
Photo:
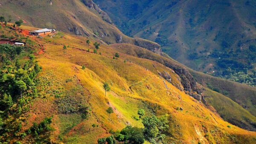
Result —
[[[21, 26], [21, 29], [35, 28]], [[1, 32], [7, 37], [17, 36], [17, 40], [26, 41], [25, 51], [19, 53], [20, 68], [8, 59], [1, 62], [2, 80], [6, 78], [4, 73], [15, 72], [17, 78], [23, 79], [20, 75], [24, 72], [33, 69], [38, 72], [33, 77], [37, 96], [29, 90], [30, 87], [21, 90], [23, 98], [20, 93], [10, 93], [13, 105], [1, 109], [4, 110], [1, 112], [1, 142], [97, 143], [98, 138], [118, 134], [118, 130], [127, 125], [143, 128], [144, 118], [153, 115], [167, 118], [168, 128], [164, 130], [163, 141], [169, 143], [252, 144], [256, 141], [255, 132], [225, 122], [185, 93], [183, 89], [195, 92], [193, 81], [185, 83], [185, 80], [193, 80], [186, 69], [171, 61], [169, 67], [173, 69], [170, 69], [138, 53], [145, 52], [151, 58], [166, 60], [151, 51], [123, 44], [100, 45], [96, 50], [86, 43], [87, 38], [62, 32], [43, 38], [25, 37], [4, 26]], [[41, 54], [37, 55], [38, 52]], [[37, 56], [33, 57], [31, 53]], [[41, 70], [36, 70], [38, 66], [28, 69], [27, 60], [29, 63], [35, 60]], [[184, 70], [185, 73], [180, 72]], [[9, 76], [7, 78], [12, 77]], [[25, 85], [30, 83], [25, 82]], [[102, 87], [104, 82], [111, 88], [106, 96]], [[1, 102], [6, 102], [2, 92]], [[113, 113], [108, 114], [109, 107]], [[145, 110], [143, 120], [137, 118], [138, 109]]]

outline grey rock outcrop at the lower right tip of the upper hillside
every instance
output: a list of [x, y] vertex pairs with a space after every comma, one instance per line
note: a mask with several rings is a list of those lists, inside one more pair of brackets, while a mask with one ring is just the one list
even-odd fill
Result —
[[141, 38], [134, 38], [134, 44], [136, 46], [140, 46], [140, 47], [143, 47], [145, 49], [148, 49], [158, 55], [162, 55], [163, 56], [163, 52], [162, 52], [162, 49], [161, 49], [161, 46], [157, 43], [154, 43], [152, 41], [149, 41], [149, 40], [144, 40], [144, 39], [141, 39]]

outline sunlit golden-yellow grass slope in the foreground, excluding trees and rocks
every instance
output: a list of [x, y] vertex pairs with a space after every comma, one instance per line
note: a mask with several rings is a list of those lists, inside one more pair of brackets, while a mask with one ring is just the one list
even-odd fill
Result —
[[[128, 124], [143, 127], [141, 120], [134, 119], [137, 110], [143, 108], [146, 115], [170, 116], [167, 134], [170, 143], [256, 142], [256, 132], [223, 121], [204, 104], [161, 78], [157, 72], [169, 72], [173, 83], [181, 85], [172, 69], [160, 63], [126, 55], [120, 49], [104, 45], [100, 46], [98, 54], [93, 54], [93, 45], [87, 45], [84, 37], [74, 35], [58, 33], [55, 37], [35, 40], [46, 49], [45, 53], [37, 56], [37, 60], [43, 67], [40, 79], [47, 84], [39, 86], [43, 97], [33, 101], [27, 116], [29, 122], [23, 124], [24, 129], [32, 122], [40, 122], [44, 117], [53, 115], [53, 142], [96, 143], [98, 138], [111, 135], [111, 129], [122, 130]], [[116, 52], [120, 58], [113, 59]], [[83, 70], [82, 66], [86, 68]], [[103, 82], [111, 86], [107, 96], [102, 88]], [[56, 100], [69, 97], [90, 106], [88, 120], [81, 119], [77, 113], [63, 114], [59, 111]], [[113, 107], [113, 114], [106, 112], [108, 107]], [[93, 124], [96, 127], [92, 127]]]

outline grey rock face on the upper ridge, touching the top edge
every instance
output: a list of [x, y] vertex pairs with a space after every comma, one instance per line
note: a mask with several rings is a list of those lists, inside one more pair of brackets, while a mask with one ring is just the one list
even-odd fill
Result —
[[102, 11], [102, 9], [99, 8], [98, 5], [96, 5], [96, 3], [93, 2], [93, 0], [82, 0], [82, 2], [84, 3], [85, 6], [89, 7], [90, 9], [95, 9], [100, 16], [102, 17], [103, 20], [105, 20], [106, 22], [113, 24], [111, 18], [108, 16], [108, 14], [104, 11]]

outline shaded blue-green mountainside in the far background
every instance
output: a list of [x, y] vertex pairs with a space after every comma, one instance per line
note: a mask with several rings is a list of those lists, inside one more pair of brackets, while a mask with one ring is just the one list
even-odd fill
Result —
[[193, 69], [256, 85], [254, 0], [94, 1], [126, 35], [159, 43]]

